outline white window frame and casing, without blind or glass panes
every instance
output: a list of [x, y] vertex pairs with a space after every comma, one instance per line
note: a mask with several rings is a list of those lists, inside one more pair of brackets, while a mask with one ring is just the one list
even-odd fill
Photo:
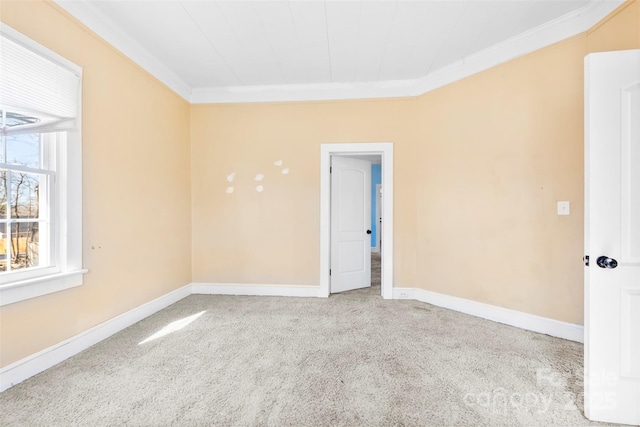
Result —
[[[0, 34], [63, 66], [79, 78], [74, 129], [51, 129], [51, 133], [46, 128], [35, 131], [42, 133], [44, 138], [56, 138], [55, 152], [51, 156], [54, 161], [49, 168], [55, 172], [53, 182], [49, 183], [52, 266], [0, 274], [0, 306], [4, 306], [80, 286], [88, 270], [82, 265], [82, 68], [7, 25], [0, 26]], [[11, 110], [10, 107], [6, 109]]]

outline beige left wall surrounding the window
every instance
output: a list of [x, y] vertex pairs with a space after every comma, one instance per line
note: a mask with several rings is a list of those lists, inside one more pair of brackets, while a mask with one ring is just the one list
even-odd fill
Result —
[[191, 281], [189, 104], [56, 5], [0, 17], [84, 69], [81, 287], [0, 308], [0, 366]]

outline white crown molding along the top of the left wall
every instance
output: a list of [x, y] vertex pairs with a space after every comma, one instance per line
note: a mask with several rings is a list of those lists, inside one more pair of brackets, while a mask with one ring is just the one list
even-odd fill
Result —
[[126, 34], [115, 22], [107, 18], [96, 6], [92, 5], [90, 1], [55, 0], [55, 2], [175, 93], [186, 101], [190, 101], [191, 86]]

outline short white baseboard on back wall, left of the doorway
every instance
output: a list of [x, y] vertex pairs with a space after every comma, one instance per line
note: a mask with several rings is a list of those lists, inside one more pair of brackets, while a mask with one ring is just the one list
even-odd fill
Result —
[[279, 297], [317, 297], [318, 286], [267, 285], [244, 283], [193, 283], [192, 294], [256, 295]]

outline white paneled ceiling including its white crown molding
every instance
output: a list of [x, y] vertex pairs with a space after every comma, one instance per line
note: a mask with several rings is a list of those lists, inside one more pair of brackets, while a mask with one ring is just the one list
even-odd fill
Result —
[[234, 102], [417, 95], [467, 59], [504, 62], [621, 1], [58, 3], [187, 100]]

